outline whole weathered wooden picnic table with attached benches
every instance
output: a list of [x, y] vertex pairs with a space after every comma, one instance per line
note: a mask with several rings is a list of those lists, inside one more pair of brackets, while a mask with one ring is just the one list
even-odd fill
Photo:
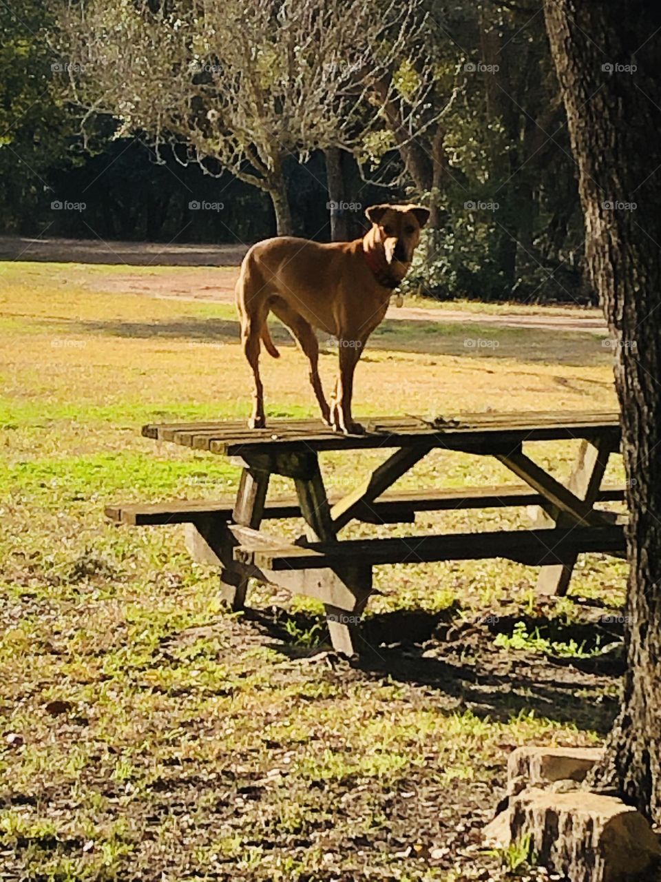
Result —
[[[222, 595], [232, 609], [244, 606], [250, 578], [322, 601], [333, 647], [357, 649], [357, 625], [372, 589], [376, 564], [503, 557], [541, 566], [538, 591], [564, 594], [576, 558], [584, 552], [623, 557], [621, 518], [596, 508], [621, 501], [623, 487], [602, 487], [611, 453], [620, 449], [614, 412], [524, 412], [458, 415], [452, 420], [417, 416], [375, 417], [362, 435], [344, 436], [319, 420], [271, 420], [249, 430], [244, 422], [147, 425], [145, 437], [220, 453], [238, 460], [241, 479], [234, 499], [155, 505], [109, 505], [118, 523], [187, 525], [197, 560], [217, 564]], [[566, 484], [524, 453], [536, 441], [580, 439]], [[395, 448], [382, 464], [342, 497], [329, 497], [318, 454], [324, 451]], [[460, 489], [390, 491], [434, 449], [490, 456], [523, 484]], [[295, 497], [267, 501], [271, 475], [293, 480]], [[353, 520], [411, 523], [416, 512], [511, 505], [537, 506], [531, 529], [343, 539]], [[302, 517], [306, 532], [293, 542], [262, 528], [264, 520]]]

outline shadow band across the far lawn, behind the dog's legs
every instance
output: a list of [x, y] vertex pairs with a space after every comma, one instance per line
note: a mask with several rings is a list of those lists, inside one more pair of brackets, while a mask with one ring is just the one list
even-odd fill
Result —
[[[184, 340], [197, 343], [234, 343], [240, 338], [238, 320], [183, 317], [175, 321], [74, 321], [58, 323], [71, 333], [92, 333], [102, 336], [141, 338], [145, 340]], [[277, 322], [270, 323], [271, 335], [279, 345], [293, 346], [291, 335]], [[320, 335], [322, 351], [336, 350], [328, 335]], [[422, 355], [455, 355], [489, 363], [504, 359], [527, 363], [572, 364], [578, 367], [610, 363], [610, 350], [591, 333], [555, 330], [496, 328], [441, 321], [382, 322], [368, 342], [369, 350], [389, 350]], [[369, 355], [367, 355], [367, 360]]]

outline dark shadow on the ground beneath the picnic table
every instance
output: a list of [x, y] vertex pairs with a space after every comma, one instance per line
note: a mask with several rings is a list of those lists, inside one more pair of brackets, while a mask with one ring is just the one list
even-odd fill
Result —
[[[574, 640], [584, 653], [617, 640], [620, 624], [564, 624], [548, 617], [501, 617], [497, 622], [472, 624], [458, 620], [456, 611], [442, 613], [399, 611], [369, 617], [360, 635], [360, 658], [353, 669], [363, 676], [425, 687], [430, 703], [434, 692], [457, 699], [459, 709], [481, 718], [507, 722], [523, 714], [573, 723], [605, 735], [613, 724], [617, 701], [611, 693], [623, 672], [620, 654], [576, 658], [518, 651], [494, 645], [498, 633], [511, 635], [517, 622], [528, 632], [538, 629], [556, 643]], [[321, 616], [287, 613], [282, 609], [251, 610], [247, 619], [272, 639], [271, 648], [290, 658], [310, 656], [328, 648]], [[287, 624], [289, 623], [289, 624]], [[316, 635], [311, 645], [297, 636]]]

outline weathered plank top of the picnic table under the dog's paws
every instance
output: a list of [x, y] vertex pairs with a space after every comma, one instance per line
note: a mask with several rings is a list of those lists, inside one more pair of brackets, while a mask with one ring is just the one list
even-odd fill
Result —
[[265, 429], [249, 429], [243, 420], [152, 423], [143, 426], [142, 434], [227, 456], [412, 445], [498, 453], [508, 452], [524, 441], [597, 436], [611, 437], [613, 450], [620, 444], [620, 416], [616, 411], [486, 411], [436, 418], [373, 416], [362, 422], [362, 435], [341, 435], [318, 419], [271, 419]]

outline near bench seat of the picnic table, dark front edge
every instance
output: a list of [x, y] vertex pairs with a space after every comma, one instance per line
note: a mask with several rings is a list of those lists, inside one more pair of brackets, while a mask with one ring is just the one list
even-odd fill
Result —
[[620, 553], [625, 547], [624, 528], [611, 525], [313, 542], [308, 547], [284, 543], [280, 549], [241, 545], [234, 549], [234, 557], [276, 571], [334, 568], [350, 560], [420, 564], [505, 557], [525, 564], [546, 565], [562, 563], [576, 553]]

